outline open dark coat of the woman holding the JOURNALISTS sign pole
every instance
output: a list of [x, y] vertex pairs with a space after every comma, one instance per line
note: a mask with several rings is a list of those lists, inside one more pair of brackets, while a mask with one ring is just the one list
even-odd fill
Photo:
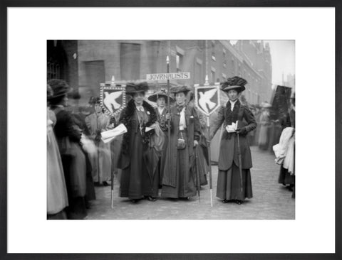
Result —
[[[170, 130], [170, 170], [169, 170], [169, 157], [168, 151], [165, 158], [164, 174], [162, 179], [162, 185], [175, 187], [176, 185], [176, 173], [177, 173], [177, 142], [180, 137], [180, 111], [177, 105], [171, 108], [171, 130]], [[187, 125], [187, 165], [185, 166], [185, 171], [190, 174], [190, 167], [195, 160], [194, 153], [194, 140], [199, 140], [201, 134], [199, 119], [197, 112], [194, 107], [187, 106], [185, 109], [185, 121]], [[167, 148], [168, 149], [168, 148]]]

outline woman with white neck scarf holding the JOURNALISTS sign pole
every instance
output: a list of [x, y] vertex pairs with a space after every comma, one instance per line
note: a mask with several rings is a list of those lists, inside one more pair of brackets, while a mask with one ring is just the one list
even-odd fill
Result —
[[[162, 197], [189, 198], [196, 195], [195, 172], [192, 168], [195, 149], [201, 134], [199, 119], [194, 107], [187, 105], [186, 86], [171, 87], [176, 104], [167, 114], [170, 119], [170, 150], [167, 147]], [[170, 151], [170, 153], [168, 152]]]

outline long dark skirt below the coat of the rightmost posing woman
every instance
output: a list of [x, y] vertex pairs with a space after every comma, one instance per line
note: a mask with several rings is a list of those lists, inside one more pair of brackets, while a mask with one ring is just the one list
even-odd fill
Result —
[[239, 167], [233, 163], [229, 170], [219, 170], [216, 197], [222, 200], [244, 200], [253, 197], [252, 178], [249, 169], [242, 170], [241, 192]]

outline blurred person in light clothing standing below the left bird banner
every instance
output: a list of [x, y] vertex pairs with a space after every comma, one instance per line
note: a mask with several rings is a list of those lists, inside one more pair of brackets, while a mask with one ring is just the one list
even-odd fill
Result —
[[101, 140], [101, 132], [108, 129], [110, 126], [110, 119], [103, 113], [100, 105], [100, 98], [95, 97], [90, 99], [93, 104], [95, 113], [86, 117], [85, 121], [89, 129], [90, 138], [95, 142], [98, 152], [91, 158], [93, 166], [93, 180], [95, 185], [108, 185], [110, 181], [110, 173], [112, 170], [112, 159], [110, 153], [110, 143], [103, 143]]

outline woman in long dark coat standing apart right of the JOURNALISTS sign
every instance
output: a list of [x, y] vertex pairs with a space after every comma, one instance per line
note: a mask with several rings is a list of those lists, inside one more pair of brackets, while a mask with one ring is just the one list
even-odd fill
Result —
[[[224, 82], [222, 90], [229, 97], [226, 107], [221, 107], [214, 119], [212, 133], [216, 133], [219, 127], [224, 124], [225, 130], [219, 149], [219, 175], [217, 178], [217, 197], [224, 203], [234, 201], [242, 204], [245, 198], [251, 198], [252, 179], [250, 168], [252, 168], [252, 156], [249, 148], [247, 134], [257, 126], [252, 112], [247, 106], [239, 102], [239, 94], [245, 90], [247, 81], [241, 77], [232, 77]], [[237, 128], [234, 129], [234, 124]], [[242, 153], [242, 165], [239, 165], [239, 148]], [[240, 183], [239, 167], [242, 168], [242, 190]]]

